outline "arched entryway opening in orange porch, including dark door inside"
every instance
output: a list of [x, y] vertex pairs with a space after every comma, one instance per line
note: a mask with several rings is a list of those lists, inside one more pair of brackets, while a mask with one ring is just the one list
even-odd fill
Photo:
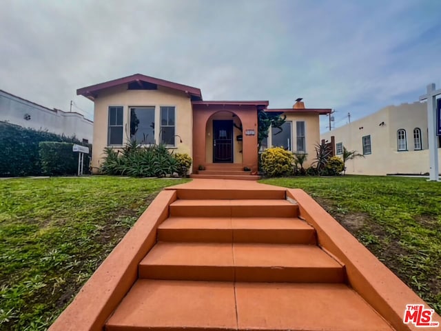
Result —
[[234, 112], [212, 114], [205, 126], [205, 162], [243, 163], [242, 131], [242, 121]]

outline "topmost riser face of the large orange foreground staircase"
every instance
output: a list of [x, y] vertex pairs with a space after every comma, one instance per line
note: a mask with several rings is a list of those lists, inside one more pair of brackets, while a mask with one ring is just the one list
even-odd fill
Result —
[[178, 190], [178, 199], [187, 200], [238, 200], [238, 199], [282, 199], [285, 191], [276, 190]]

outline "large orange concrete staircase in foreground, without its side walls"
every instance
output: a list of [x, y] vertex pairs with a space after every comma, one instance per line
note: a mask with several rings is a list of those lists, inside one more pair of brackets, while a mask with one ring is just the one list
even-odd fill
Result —
[[393, 330], [285, 190], [177, 192], [105, 330]]

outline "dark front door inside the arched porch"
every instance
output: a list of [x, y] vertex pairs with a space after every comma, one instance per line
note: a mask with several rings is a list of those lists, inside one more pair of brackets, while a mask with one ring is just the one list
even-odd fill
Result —
[[233, 163], [233, 121], [213, 120], [213, 163]]

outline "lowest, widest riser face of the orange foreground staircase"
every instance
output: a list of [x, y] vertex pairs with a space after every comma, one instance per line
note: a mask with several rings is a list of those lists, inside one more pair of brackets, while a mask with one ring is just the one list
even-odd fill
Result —
[[140, 265], [142, 279], [176, 281], [247, 281], [265, 283], [343, 283], [343, 268], [225, 267]]

